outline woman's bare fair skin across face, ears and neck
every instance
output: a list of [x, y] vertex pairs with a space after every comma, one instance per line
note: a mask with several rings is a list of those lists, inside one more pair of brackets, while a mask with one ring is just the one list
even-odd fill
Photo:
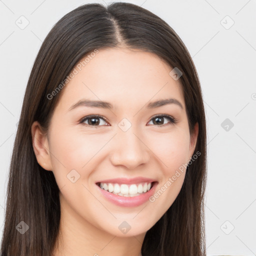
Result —
[[[53, 171], [60, 189], [60, 233], [56, 256], [140, 255], [146, 231], [173, 203], [183, 184], [185, 171], [154, 201], [136, 207], [121, 207], [106, 200], [95, 182], [116, 177], [144, 176], [158, 181], [156, 190], [194, 153], [198, 124], [189, 134], [185, 102], [172, 68], [157, 55], [127, 48], [99, 52], [66, 84], [46, 134], [35, 121], [31, 127], [38, 163]], [[146, 108], [150, 101], [175, 98], [171, 103]], [[113, 109], [69, 107], [82, 98], [110, 102]], [[99, 119], [97, 128], [90, 114]], [[154, 115], [177, 119], [153, 122]], [[118, 123], [126, 118], [127, 131]], [[91, 122], [90, 122], [91, 123]], [[108, 124], [108, 125], [107, 125]], [[161, 127], [159, 127], [161, 126]], [[75, 169], [80, 177], [72, 183], [67, 174]], [[122, 233], [122, 221], [131, 226]]]

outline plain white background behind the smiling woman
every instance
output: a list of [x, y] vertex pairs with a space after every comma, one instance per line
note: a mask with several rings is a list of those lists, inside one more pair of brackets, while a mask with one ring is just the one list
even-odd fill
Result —
[[[16, 123], [33, 61], [54, 23], [88, 2], [103, 3], [0, 0], [1, 231]], [[207, 255], [255, 255], [256, 1], [128, 2], [152, 11], [177, 32], [199, 74], [207, 118]], [[21, 15], [29, 21], [24, 29], [15, 23]], [[221, 126], [226, 118], [234, 124], [228, 130]]]

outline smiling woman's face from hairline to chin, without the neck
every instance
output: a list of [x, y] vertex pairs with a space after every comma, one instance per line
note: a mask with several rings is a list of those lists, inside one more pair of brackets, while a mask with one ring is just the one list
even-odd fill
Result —
[[198, 127], [189, 134], [179, 80], [156, 55], [108, 48], [84, 63], [62, 88], [37, 160], [53, 171], [65, 216], [116, 236], [146, 232], [180, 191]]

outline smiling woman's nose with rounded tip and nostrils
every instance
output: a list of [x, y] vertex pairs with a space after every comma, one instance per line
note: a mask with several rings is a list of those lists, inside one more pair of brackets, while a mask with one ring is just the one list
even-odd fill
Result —
[[110, 161], [113, 165], [123, 165], [128, 169], [134, 169], [145, 164], [150, 159], [150, 149], [142, 136], [133, 129], [119, 130], [112, 141]]

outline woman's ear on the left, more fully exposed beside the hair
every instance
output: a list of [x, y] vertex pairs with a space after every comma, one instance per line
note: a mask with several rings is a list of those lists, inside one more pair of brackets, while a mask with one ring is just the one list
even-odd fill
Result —
[[31, 126], [32, 145], [39, 165], [46, 170], [52, 170], [47, 133], [43, 132], [38, 121]]

